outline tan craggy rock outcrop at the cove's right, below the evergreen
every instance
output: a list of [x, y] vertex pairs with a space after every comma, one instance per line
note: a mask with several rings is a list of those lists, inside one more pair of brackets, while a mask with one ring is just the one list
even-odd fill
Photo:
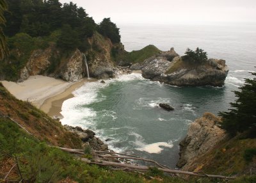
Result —
[[200, 158], [200, 155], [212, 150], [225, 138], [225, 132], [218, 127], [220, 122], [221, 119], [212, 113], [204, 113], [202, 118], [191, 123], [186, 138], [180, 142], [177, 167], [187, 170], [196, 159]]

